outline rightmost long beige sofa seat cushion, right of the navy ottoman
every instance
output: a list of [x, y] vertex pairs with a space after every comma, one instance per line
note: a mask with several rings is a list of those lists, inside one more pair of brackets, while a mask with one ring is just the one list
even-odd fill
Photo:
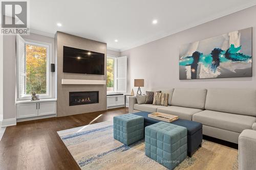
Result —
[[193, 121], [206, 126], [241, 133], [245, 129], [251, 129], [252, 124], [256, 122], [256, 117], [204, 110], [194, 114]]

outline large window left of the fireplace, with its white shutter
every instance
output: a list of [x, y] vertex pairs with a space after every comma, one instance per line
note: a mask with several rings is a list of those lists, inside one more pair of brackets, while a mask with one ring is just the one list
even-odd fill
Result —
[[32, 92], [51, 98], [50, 51], [51, 44], [17, 36], [18, 100], [30, 99]]

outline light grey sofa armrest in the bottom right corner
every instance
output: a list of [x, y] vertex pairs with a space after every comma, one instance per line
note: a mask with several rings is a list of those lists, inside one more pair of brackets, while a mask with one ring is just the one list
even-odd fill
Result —
[[239, 135], [239, 169], [254, 169], [256, 167], [256, 131], [246, 129]]

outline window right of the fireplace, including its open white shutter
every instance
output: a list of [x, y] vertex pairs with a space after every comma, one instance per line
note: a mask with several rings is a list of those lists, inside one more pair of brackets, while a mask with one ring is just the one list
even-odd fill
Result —
[[126, 92], [127, 57], [106, 60], [106, 88], [108, 92]]

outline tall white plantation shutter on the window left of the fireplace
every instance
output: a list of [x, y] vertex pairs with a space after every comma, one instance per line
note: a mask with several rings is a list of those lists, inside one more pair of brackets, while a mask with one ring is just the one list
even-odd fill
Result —
[[25, 40], [17, 35], [17, 75], [18, 75], [18, 98], [23, 98], [26, 93], [26, 46]]

